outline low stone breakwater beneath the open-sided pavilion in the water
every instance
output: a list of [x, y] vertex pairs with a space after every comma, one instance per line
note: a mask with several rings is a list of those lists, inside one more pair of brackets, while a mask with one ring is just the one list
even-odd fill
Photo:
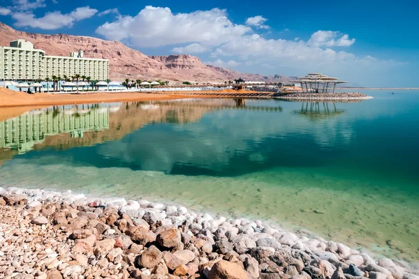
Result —
[[276, 98], [285, 100], [367, 100], [372, 99], [368, 96], [358, 92], [346, 93], [279, 93], [275, 95]]

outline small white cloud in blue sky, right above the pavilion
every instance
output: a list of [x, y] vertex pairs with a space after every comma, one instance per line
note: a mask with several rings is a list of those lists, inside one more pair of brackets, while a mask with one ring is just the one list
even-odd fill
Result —
[[319, 30], [311, 35], [308, 41], [314, 47], [349, 47], [355, 43], [355, 39], [349, 39], [348, 34], [341, 34], [339, 31]]

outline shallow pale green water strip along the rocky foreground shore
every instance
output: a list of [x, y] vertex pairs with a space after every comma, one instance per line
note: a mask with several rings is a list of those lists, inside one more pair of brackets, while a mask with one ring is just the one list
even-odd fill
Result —
[[365, 181], [319, 174], [316, 169], [274, 169], [231, 178], [68, 163], [38, 165], [17, 159], [0, 168], [0, 180], [24, 188], [176, 202], [302, 227], [326, 239], [409, 262], [419, 259], [416, 197], [391, 193], [392, 187], [374, 188]]

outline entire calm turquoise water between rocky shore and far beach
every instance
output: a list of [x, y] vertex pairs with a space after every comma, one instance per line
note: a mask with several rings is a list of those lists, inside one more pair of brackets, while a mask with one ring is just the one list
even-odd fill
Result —
[[0, 181], [271, 220], [417, 262], [419, 92], [363, 93], [28, 112], [0, 124]]

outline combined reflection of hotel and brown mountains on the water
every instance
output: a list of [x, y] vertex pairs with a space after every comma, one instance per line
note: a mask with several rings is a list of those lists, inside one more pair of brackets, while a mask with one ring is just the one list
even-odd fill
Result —
[[0, 161], [46, 147], [64, 150], [120, 140], [147, 123], [193, 123], [207, 112], [235, 109], [282, 111], [242, 98], [54, 106], [0, 122]]

